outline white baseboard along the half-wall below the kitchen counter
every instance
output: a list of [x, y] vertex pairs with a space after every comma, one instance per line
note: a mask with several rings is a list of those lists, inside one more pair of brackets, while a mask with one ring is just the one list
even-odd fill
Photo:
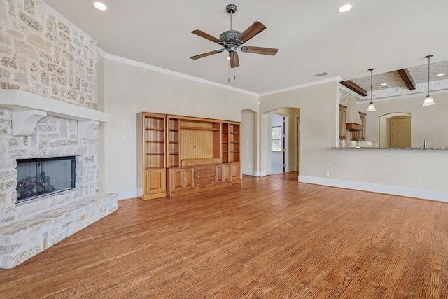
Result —
[[316, 185], [347, 188], [354, 190], [363, 190], [376, 193], [386, 193], [391, 195], [400, 195], [406, 197], [423, 198], [425, 200], [437, 200], [448, 202], [448, 192], [425, 190], [417, 188], [407, 188], [400, 186], [380, 185], [377, 183], [363, 183], [358, 181], [342, 181], [338, 179], [325, 179], [316, 176], [300, 176], [301, 183], [314, 183]]

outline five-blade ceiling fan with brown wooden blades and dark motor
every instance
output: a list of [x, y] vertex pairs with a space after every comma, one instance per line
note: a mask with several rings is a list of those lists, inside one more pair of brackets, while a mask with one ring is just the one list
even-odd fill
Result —
[[201, 30], [193, 30], [191, 33], [196, 34], [198, 36], [203, 37], [204, 39], [208, 39], [209, 41], [213, 41], [214, 43], [218, 43], [218, 45], [223, 46], [224, 48], [219, 50], [214, 50], [207, 53], [202, 53], [200, 55], [195, 55], [190, 57], [193, 60], [197, 60], [202, 57], [214, 55], [216, 53], [221, 53], [224, 50], [228, 50], [230, 67], [239, 67], [239, 58], [238, 58], [238, 49], [241, 49], [242, 52], [247, 53], [255, 53], [255, 54], [264, 54], [264, 55], [276, 55], [279, 49], [274, 48], [264, 48], [264, 47], [255, 47], [255, 46], [242, 46], [246, 41], [252, 39], [253, 36], [259, 34], [263, 30], [266, 29], [265, 25], [262, 23], [255, 21], [248, 29], [246, 29], [243, 33], [232, 29], [232, 16], [237, 11], [237, 6], [235, 4], [229, 4], [225, 7], [226, 11], [230, 13], [230, 30], [223, 32], [219, 39], [210, 34], [207, 34]]

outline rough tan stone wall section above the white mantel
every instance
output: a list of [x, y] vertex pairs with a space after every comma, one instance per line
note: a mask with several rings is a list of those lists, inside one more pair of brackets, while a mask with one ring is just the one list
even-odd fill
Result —
[[43, 1], [0, 1], [0, 88], [97, 109], [98, 52]]

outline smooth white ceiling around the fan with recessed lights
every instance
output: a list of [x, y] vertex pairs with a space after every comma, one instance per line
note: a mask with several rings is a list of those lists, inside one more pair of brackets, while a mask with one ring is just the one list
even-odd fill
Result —
[[[375, 74], [427, 71], [426, 55], [434, 55], [431, 64], [448, 60], [447, 0], [349, 0], [348, 13], [337, 13], [342, 0], [104, 0], [108, 11], [92, 0], [43, 1], [106, 53], [258, 94], [336, 76], [355, 81], [372, 67]], [[246, 44], [279, 48], [275, 56], [240, 52], [231, 70], [227, 52], [190, 59], [221, 48], [191, 31], [219, 38], [230, 29], [228, 4], [237, 5], [233, 29], [255, 21], [267, 27]], [[370, 90], [370, 81], [361, 87]]]

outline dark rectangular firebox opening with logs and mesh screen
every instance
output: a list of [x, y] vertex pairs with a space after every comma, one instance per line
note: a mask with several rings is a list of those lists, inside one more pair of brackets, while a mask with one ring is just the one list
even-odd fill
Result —
[[75, 188], [74, 156], [18, 159], [17, 203]]

